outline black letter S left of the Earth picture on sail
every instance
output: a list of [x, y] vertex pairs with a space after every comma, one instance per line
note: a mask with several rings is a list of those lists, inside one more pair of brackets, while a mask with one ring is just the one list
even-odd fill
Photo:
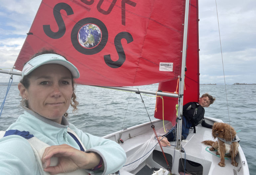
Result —
[[65, 10], [67, 15], [74, 14], [72, 8], [66, 3], [59, 3], [55, 5], [53, 9], [53, 15], [58, 24], [59, 30], [57, 32], [53, 32], [50, 28], [50, 25], [43, 25], [45, 34], [53, 39], [61, 38], [66, 31], [65, 23], [60, 13], [61, 10]]

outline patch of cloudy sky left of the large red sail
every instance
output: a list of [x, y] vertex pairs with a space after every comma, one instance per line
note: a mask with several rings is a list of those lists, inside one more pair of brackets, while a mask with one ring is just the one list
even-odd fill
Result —
[[[0, 69], [12, 68], [25, 41], [41, 0], [8, 0], [0, 4]], [[10, 69], [9, 69], [10, 70]], [[10, 75], [0, 74], [0, 82], [8, 82]], [[20, 76], [13, 76], [18, 82]]]

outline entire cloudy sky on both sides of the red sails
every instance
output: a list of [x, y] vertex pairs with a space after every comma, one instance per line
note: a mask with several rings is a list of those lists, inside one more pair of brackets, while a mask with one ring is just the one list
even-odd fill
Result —
[[[0, 69], [13, 67], [40, 3], [1, 1]], [[255, 7], [255, 0], [199, 0], [200, 84], [256, 83]], [[0, 74], [0, 82], [9, 78]]]

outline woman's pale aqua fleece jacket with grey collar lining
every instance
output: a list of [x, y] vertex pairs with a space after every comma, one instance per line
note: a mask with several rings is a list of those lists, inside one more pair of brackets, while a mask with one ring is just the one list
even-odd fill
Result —
[[[67, 144], [80, 150], [67, 133], [68, 127], [77, 134], [86, 148], [85, 152], [96, 152], [102, 157], [104, 172], [95, 171], [95, 174], [111, 174], [124, 165], [126, 154], [121, 146], [114, 141], [83, 133], [68, 123], [64, 116], [62, 123], [58, 124], [31, 110], [25, 110], [7, 130], [28, 131], [50, 146]], [[40, 175], [34, 152], [26, 139], [16, 135], [0, 139], [0, 174]]]

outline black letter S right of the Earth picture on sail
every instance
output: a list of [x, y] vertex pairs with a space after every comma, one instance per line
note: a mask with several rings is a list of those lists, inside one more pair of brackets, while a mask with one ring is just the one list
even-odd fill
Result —
[[119, 68], [125, 62], [125, 53], [124, 53], [123, 46], [121, 44], [121, 39], [123, 38], [126, 39], [127, 43], [130, 43], [133, 41], [132, 35], [128, 32], [123, 31], [116, 35], [114, 39], [114, 43], [115, 43], [117, 54], [119, 56], [117, 61], [112, 61], [110, 58], [110, 54], [104, 55], [105, 63], [111, 68]]

